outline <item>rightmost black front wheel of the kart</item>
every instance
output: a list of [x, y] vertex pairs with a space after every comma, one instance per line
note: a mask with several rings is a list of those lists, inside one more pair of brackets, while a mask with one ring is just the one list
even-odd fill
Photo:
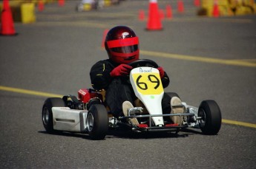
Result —
[[220, 131], [221, 112], [214, 100], [204, 100], [198, 109], [200, 129], [203, 134], [215, 135]]

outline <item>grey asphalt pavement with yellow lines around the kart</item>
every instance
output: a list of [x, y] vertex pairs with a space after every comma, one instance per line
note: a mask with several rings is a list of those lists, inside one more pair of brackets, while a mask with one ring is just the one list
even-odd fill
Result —
[[[145, 30], [148, 1], [79, 13], [74, 0], [45, 4], [35, 23], [15, 23], [18, 35], [0, 36], [0, 168], [255, 168], [256, 17], [200, 17], [193, 1], [183, 1], [184, 13], [177, 1], [158, 1], [173, 11], [163, 30]], [[104, 32], [116, 25], [137, 33], [140, 58], [163, 66], [171, 78], [166, 91], [193, 106], [219, 104], [219, 134], [109, 131], [93, 141], [87, 134], [45, 132], [45, 99], [91, 87], [91, 66], [108, 58]]]

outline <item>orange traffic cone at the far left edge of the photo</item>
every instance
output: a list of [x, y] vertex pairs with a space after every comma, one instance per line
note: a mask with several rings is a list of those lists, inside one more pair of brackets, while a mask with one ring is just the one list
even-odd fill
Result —
[[14, 30], [13, 15], [10, 10], [9, 0], [4, 0], [3, 10], [1, 11], [0, 35], [17, 35]]

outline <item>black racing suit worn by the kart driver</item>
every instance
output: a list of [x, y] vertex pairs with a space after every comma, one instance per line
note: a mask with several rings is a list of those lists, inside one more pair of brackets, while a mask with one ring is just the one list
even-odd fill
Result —
[[[99, 61], [92, 66], [90, 77], [93, 89], [105, 89], [105, 102], [110, 108], [111, 113], [114, 114], [115, 117], [118, 117], [122, 115], [122, 103], [128, 100], [134, 105], [134, 100], [136, 100], [137, 97], [134, 94], [131, 83], [128, 83], [128, 75], [111, 77], [110, 72], [116, 66], [119, 66], [119, 64], [114, 63], [110, 59]], [[167, 87], [170, 83], [166, 72], [161, 80], [163, 88]], [[163, 114], [171, 113], [170, 101], [171, 97], [164, 93], [162, 100]]]

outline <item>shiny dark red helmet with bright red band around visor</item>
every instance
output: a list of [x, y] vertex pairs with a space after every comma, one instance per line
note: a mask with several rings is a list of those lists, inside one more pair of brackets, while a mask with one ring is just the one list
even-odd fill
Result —
[[108, 57], [116, 63], [130, 63], [139, 59], [139, 38], [129, 27], [117, 26], [105, 38]]

